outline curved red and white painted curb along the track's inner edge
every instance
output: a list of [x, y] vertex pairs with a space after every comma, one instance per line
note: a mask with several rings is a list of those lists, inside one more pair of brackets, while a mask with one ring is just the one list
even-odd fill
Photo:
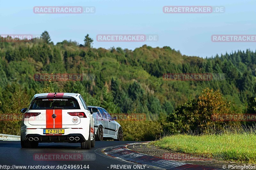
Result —
[[[139, 144], [139, 143], [132, 143]], [[129, 162], [136, 162], [142, 165], [148, 165], [161, 169], [189, 169], [189, 170], [213, 170], [219, 169], [215, 167], [207, 167], [202, 165], [187, 164], [179, 161], [165, 160], [154, 156], [149, 156], [140, 152], [128, 149], [127, 146], [131, 144], [123, 144], [118, 146], [111, 146], [104, 148], [101, 152], [112, 158], [126, 160]]]

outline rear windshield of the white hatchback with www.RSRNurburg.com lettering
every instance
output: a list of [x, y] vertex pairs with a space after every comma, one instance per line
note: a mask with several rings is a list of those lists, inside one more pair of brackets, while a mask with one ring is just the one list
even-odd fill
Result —
[[73, 97], [36, 98], [29, 109], [80, 109], [77, 100]]

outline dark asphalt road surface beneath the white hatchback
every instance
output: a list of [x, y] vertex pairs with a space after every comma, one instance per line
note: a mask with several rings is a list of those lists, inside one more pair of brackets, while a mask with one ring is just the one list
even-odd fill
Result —
[[[21, 148], [20, 142], [0, 141], [0, 169], [24, 169], [17, 166], [34, 166], [33, 169], [43, 169], [42, 166], [55, 166], [54, 169], [135, 169], [139, 164], [119, 161], [110, 157], [98, 154], [103, 147], [128, 144], [133, 142], [128, 141], [96, 141], [95, 147], [90, 150], [81, 149], [80, 143], [39, 143], [38, 148]], [[96, 151], [95, 151], [96, 150]], [[78, 154], [80, 157], [75, 157]], [[47, 155], [47, 156], [45, 156]], [[71, 157], [64, 158], [65, 160], [52, 160], [56, 155], [71, 155]], [[82, 157], [81, 157], [82, 156]], [[79, 158], [79, 159], [78, 159]], [[42, 160], [44, 159], [44, 160]], [[74, 160], [75, 159], [75, 160]], [[6, 165], [4, 167], [4, 165]], [[75, 167], [75, 165], [79, 165]], [[85, 165], [85, 166], [84, 166]], [[116, 165], [116, 166], [115, 166]], [[122, 166], [123, 165], [123, 166]], [[124, 166], [125, 165], [125, 166]], [[127, 168], [131, 166], [131, 168]], [[41, 166], [37, 167], [36, 166]], [[57, 168], [57, 166], [59, 166]], [[62, 168], [60, 166], [63, 166]], [[16, 168], [15, 168], [16, 167]], [[116, 168], [115, 168], [116, 167]], [[47, 167], [48, 168], [48, 167]], [[30, 168], [29, 168], [30, 169]], [[141, 168], [143, 169], [143, 166]], [[145, 166], [145, 169], [147, 166]]]

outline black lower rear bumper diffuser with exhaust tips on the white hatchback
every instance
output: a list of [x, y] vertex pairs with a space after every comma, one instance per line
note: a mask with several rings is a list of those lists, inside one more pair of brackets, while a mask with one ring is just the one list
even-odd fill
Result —
[[[25, 140], [28, 140], [28, 138], [38, 138], [39, 143], [51, 143], [51, 142], [69, 142], [69, 143], [81, 143], [85, 142], [85, 138], [82, 134], [69, 134], [69, 135], [38, 135], [38, 134], [28, 134], [26, 135]], [[70, 137], [74, 137], [73, 140], [70, 140]], [[75, 140], [76, 137], [79, 137], [79, 140]], [[72, 139], [72, 138], [71, 138]], [[33, 140], [34, 141], [34, 140]]]

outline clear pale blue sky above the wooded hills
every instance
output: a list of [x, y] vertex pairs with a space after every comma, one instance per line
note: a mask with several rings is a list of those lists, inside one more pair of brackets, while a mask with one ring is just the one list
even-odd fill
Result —
[[[224, 6], [224, 13], [165, 14], [163, 6]], [[93, 14], [35, 14], [34, 6], [93, 6]], [[0, 34], [41, 34], [54, 43], [84, 43], [88, 33], [95, 48], [134, 49], [147, 44], [170, 46], [184, 55], [211, 57], [221, 53], [255, 51], [256, 42], [212, 42], [212, 34], [256, 34], [253, 0], [0, 0]], [[98, 42], [97, 34], [156, 34], [154, 42]]]

